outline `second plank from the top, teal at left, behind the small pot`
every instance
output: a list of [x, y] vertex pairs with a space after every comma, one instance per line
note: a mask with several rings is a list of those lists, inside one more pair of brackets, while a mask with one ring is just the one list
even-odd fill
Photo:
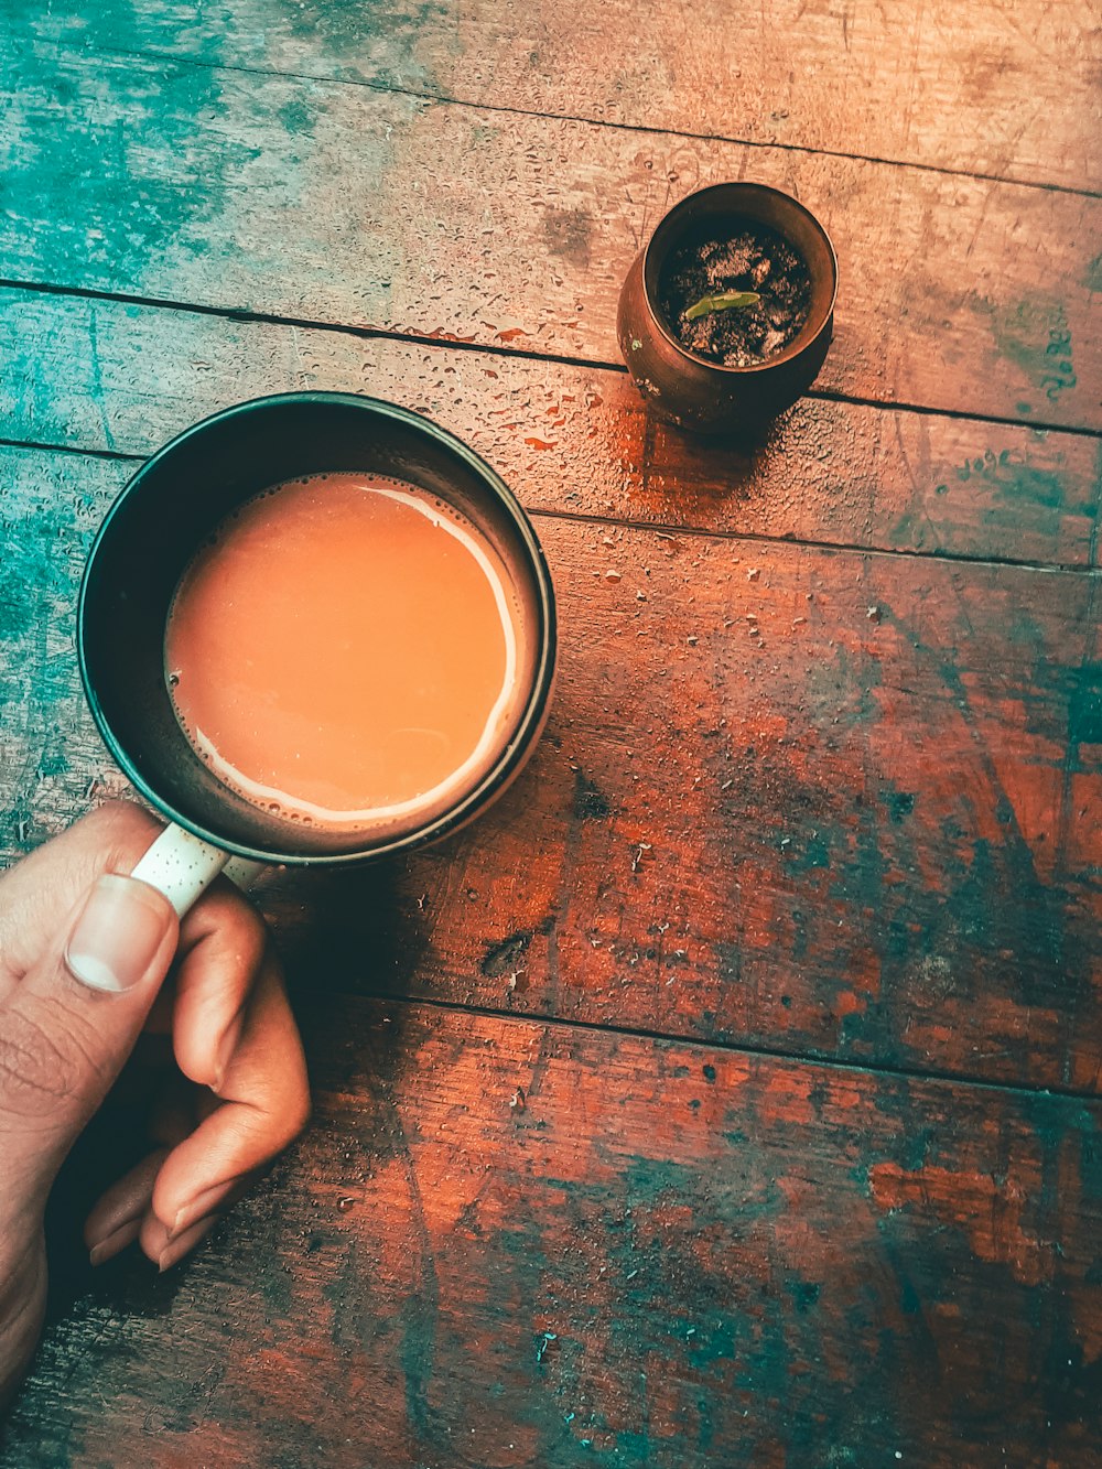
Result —
[[7, 281], [614, 361], [649, 229], [752, 175], [838, 244], [821, 388], [1102, 426], [1096, 200], [16, 41]]

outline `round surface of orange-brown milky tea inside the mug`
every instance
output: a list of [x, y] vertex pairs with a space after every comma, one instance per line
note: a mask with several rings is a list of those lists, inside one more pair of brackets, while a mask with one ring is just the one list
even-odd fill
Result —
[[184, 573], [165, 671], [198, 754], [320, 826], [406, 824], [485, 774], [511, 723], [520, 614], [492, 546], [401, 480], [264, 491]]

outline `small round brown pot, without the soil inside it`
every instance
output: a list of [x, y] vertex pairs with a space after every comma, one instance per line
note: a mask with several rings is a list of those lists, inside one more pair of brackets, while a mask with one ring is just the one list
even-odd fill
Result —
[[[723, 367], [682, 347], [666, 319], [658, 282], [670, 251], [714, 222], [717, 234], [749, 220], [792, 244], [811, 273], [811, 310], [788, 347], [752, 367]], [[805, 392], [830, 345], [838, 259], [815, 216], [766, 184], [714, 184], [666, 214], [627, 272], [617, 335], [627, 370], [648, 407], [698, 433], [752, 433]]]

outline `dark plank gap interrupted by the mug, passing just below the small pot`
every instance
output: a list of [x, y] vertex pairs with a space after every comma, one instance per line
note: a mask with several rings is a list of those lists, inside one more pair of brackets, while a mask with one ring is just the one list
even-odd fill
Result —
[[[406, 339], [406, 338], [404, 338]], [[451, 344], [448, 344], [451, 345]], [[1062, 430], [1059, 430], [1062, 432]], [[122, 464], [144, 464], [150, 454], [128, 454], [122, 450], [85, 450], [72, 444], [46, 444], [40, 439], [9, 439], [0, 438], [0, 448], [26, 450], [34, 454], [71, 454], [76, 458], [110, 460]], [[624, 530], [641, 530], [655, 536], [694, 536], [701, 541], [741, 541], [752, 545], [792, 546], [804, 551], [838, 552], [839, 555], [885, 557], [887, 560], [910, 561], [943, 561], [948, 566], [992, 566], [1012, 567], [1017, 571], [1040, 571], [1054, 576], [1087, 576], [1098, 577], [1102, 567], [1095, 564], [1095, 546], [1092, 544], [1090, 564], [1070, 564], [1064, 561], [1024, 561], [1014, 557], [965, 555], [957, 551], [911, 551], [893, 549], [887, 546], [862, 546], [855, 542], [815, 541], [808, 536], [768, 536], [763, 530], [713, 530], [707, 526], [683, 526], [676, 520], [632, 520], [630, 516], [598, 516], [580, 510], [539, 510], [525, 507], [525, 514], [533, 520], [566, 520], [585, 526], [616, 526]], [[1095, 536], [1098, 526], [1095, 526]]]

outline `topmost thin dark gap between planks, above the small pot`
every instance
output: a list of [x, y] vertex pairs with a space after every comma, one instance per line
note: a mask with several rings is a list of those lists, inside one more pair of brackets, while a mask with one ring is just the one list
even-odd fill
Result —
[[639, 132], [651, 138], [686, 138], [694, 142], [729, 142], [741, 148], [776, 148], [779, 153], [801, 153], [808, 157], [852, 159], [858, 163], [879, 163], [892, 169], [917, 169], [920, 173], [937, 173], [945, 178], [982, 179], [987, 184], [1009, 184], [1014, 188], [1042, 190], [1048, 194], [1073, 194], [1078, 198], [1102, 198], [1102, 192], [1090, 188], [1076, 188], [1071, 184], [1046, 184], [1040, 179], [1015, 179], [1005, 173], [986, 173], [976, 169], [952, 169], [940, 163], [915, 163], [910, 159], [887, 159], [876, 153], [848, 153], [840, 148], [813, 148], [799, 142], [766, 142], [758, 138], [736, 138], [723, 132], [691, 132], [685, 128], [648, 128], [639, 122], [610, 122], [605, 118], [583, 118], [572, 112], [539, 112], [535, 107], [510, 107], [504, 103], [467, 101], [450, 93], [422, 91], [414, 87], [395, 87], [389, 82], [369, 81], [356, 76], [322, 76], [314, 72], [279, 71], [273, 66], [244, 66], [240, 62], [212, 62], [201, 56], [176, 56], [173, 51], [128, 50], [125, 47], [96, 47], [98, 56], [116, 56], [135, 62], [169, 62], [175, 66], [195, 66], [209, 72], [240, 72], [244, 76], [282, 76], [288, 81], [314, 82], [325, 87], [360, 87], [367, 91], [388, 93], [394, 97], [411, 97], [414, 101], [436, 103], [445, 107], [464, 107], [470, 112], [508, 113], [517, 118], [548, 118], [554, 122], [576, 122], [586, 128], [607, 128], [613, 132]]

